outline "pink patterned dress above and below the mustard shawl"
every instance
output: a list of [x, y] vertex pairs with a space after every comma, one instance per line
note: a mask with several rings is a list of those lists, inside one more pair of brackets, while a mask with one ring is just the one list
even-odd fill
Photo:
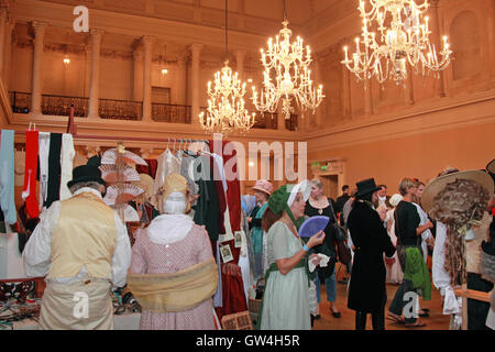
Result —
[[[136, 234], [132, 248], [130, 273], [165, 274], [186, 270], [211, 258], [211, 244], [202, 227], [193, 226], [183, 239], [169, 244], [150, 240], [146, 230]], [[141, 330], [215, 330], [213, 302], [207, 299], [193, 309], [179, 312], [152, 312], [143, 308]]]

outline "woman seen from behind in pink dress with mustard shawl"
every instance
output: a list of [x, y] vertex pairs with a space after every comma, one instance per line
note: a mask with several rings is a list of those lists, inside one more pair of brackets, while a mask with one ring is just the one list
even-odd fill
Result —
[[165, 179], [160, 216], [132, 248], [128, 286], [142, 307], [141, 330], [212, 330], [218, 272], [204, 227], [186, 216], [187, 180]]

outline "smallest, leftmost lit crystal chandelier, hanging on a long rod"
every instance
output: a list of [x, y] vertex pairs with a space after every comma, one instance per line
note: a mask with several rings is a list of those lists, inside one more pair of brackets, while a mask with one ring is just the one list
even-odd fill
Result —
[[206, 132], [227, 133], [231, 131], [241, 134], [248, 132], [255, 122], [254, 112], [250, 114], [244, 108], [245, 82], [229, 67], [226, 0], [226, 66], [215, 74], [215, 87], [208, 82], [208, 107], [199, 113], [199, 122]]

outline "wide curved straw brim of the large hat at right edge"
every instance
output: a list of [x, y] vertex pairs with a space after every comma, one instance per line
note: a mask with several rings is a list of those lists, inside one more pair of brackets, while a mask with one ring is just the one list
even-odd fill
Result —
[[429, 212], [435, 205], [435, 197], [442, 191], [448, 184], [457, 179], [471, 179], [485, 188], [490, 195], [493, 195], [494, 184], [492, 177], [483, 170], [470, 169], [458, 172], [433, 178], [426, 185], [421, 195], [421, 206], [426, 212]]

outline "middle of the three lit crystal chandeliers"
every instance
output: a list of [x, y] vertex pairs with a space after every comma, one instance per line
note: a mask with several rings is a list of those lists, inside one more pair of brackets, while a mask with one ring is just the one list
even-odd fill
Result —
[[[321, 103], [323, 96], [323, 86], [318, 89], [311, 80], [311, 51], [309, 46], [302, 46], [302, 40], [298, 36], [296, 42], [290, 43], [293, 32], [287, 28], [288, 21], [284, 0], [284, 28], [279, 35], [275, 37], [275, 43], [271, 37], [268, 40], [268, 50], [265, 53], [261, 50], [261, 62], [265, 67], [263, 73], [263, 89], [258, 97], [256, 88], [253, 86], [254, 106], [262, 113], [276, 112], [278, 101], [282, 99], [282, 112], [285, 119], [290, 119], [294, 112], [292, 100], [295, 99], [301, 112], [311, 109], [315, 113], [316, 108]], [[273, 69], [273, 73], [272, 73]], [[304, 117], [304, 114], [301, 116]]]

